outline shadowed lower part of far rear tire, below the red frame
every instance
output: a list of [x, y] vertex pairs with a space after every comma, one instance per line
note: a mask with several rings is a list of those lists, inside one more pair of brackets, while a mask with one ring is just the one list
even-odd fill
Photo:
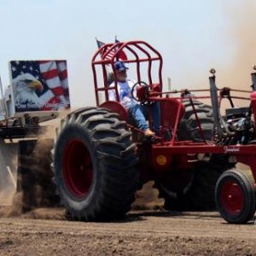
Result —
[[[173, 191], [168, 189], [165, 183], [158, 183], [157, 187], [160, 191], [160, 197], [165, 199], [166, 210], [172, 211], [210, 211], [214, 210], [214, 189], [218, 181], [218, 177], [230, 165], [227, 160], [219, 158], [220, 163], [212, 157], [212, 160], [198, 161], [190, 172], [190, 180], [182, 189]], [[223, 163], [223, 164], [221, 164]], [[177, 170], [177, 172], [179, 172]], [[183, 180], [183, 177], [180, 177]], [[167, 180], [167, 179], [166, 179]], [[177, 181], [177, 183], [179, 183]]]

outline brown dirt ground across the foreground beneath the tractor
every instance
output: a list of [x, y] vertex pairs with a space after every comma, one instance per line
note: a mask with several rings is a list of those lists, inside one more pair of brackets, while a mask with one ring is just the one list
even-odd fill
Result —
[[217, 212], [130, 212], [123, 221], [67, 221], [63, 209], [0, 218], [0, 255], [256, 255], [256, 226]]

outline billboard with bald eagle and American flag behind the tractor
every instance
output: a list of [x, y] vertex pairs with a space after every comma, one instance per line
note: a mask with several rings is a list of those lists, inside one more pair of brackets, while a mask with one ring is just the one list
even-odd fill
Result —
[[70, 108], [67, 61], [10, 61], [15, 113]]

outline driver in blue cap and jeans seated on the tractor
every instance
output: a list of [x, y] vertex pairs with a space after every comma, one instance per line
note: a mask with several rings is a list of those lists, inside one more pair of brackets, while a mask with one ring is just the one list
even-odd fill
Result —
[[[122, 61], [116, 61], [114, 63], [114, 69], [116, 71], [117, 86], [119, 92], [119, 101], [127, 109], [128, 115], [135, 121], [137, 128], [144, 132], [145, 137], [153, 137], [155, 133], [158, 133], [160, 127], [160, 105], [158, 102], [153, 102], [150, 107], [146, 105], [138, 104], [131, 96], [131, 88], [134, 81], [127, 79], [125, 63]], [[114, 81], [110, 86], [114, 86]], [[115, 90], [109, 90], [109, 101], [116, 101]], [[148, 112], [150, 108], [153, 117], [154, 131], [149, 129], [147, 120], [144, 113]]]

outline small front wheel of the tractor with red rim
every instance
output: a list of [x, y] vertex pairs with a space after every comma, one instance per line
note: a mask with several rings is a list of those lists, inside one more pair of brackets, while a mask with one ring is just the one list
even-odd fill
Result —
[[226, 171], [218, 178], [215, 201], [218, 212], [228, 223], [247, 223], [255, 213], [253, 182], [244, 172]]

